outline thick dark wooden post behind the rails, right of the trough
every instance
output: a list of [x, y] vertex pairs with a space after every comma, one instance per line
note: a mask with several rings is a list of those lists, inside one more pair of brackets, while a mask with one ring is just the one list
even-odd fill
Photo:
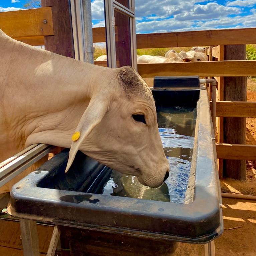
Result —
[[[225, 45], [224, 60], [245, 60], [245, 45]], [[224, 77], [224, 100], [246, 101], [246, 77]], [[224, 118], [224, 143], [245, 144], [246, 118]], [[223, 176], [246, 179], [245, 160], [224, 160]]]

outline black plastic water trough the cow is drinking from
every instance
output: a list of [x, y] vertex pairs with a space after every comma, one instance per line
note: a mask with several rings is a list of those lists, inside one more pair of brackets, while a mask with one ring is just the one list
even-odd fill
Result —
[[217, 238], [221, 193], [205, 86], [199, 77], [156, 77], [152, 92], [171, 168], [165, 184], [149, 189], [80, 152], [65, 174], [66, 149], [13, 186], [8, 213], [58, 225], [71, 255], [170, 255], [177, 241]]

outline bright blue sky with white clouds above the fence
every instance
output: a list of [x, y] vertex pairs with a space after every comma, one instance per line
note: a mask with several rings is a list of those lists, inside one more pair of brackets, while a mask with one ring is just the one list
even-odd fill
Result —
[[[93, 27], [104, 26], [103, 0], [92, 0]], [[0, 0], [0, 11], [26, 0]], [[137, 33], [256, 27], [256, 0], [135, 0]]]

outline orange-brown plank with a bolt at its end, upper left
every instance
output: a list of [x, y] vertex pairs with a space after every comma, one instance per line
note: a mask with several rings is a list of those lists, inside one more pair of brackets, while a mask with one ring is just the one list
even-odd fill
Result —
[[51, 7], [1, 12], [0, 24], [0, 28], [13, 38], [53, 35]]

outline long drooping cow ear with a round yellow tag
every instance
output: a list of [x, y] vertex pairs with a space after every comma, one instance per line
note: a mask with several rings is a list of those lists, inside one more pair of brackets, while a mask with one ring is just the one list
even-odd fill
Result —
[[92, 129], [102, 120], [108, 108], [106, 100], [91, 99], [88, 107], [84, 111], [76, 130], [72, 136], [72, 144], [65, 173], [73, 163], [75, 155], [82, 142], [86, 139]]

